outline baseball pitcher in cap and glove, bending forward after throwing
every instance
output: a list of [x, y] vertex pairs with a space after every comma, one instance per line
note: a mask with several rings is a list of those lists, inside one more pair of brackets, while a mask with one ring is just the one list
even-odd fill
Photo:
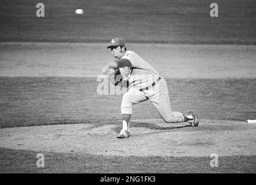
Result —
[[[199, 125], [199, 120], [193, 112], [185, 115], [181, 112], [171, 111], [166, 81], [138, 54], [127, 50], [123, 40], [114, 38], [107, 48], [111, 49], [115, 61], [105, 65], [102, 73], [108, 74], [111, 77], [111, 82], [115, 85], [123, 82], [130, 84], [129, 90], [123, 95], [120, 106], [123, 128], [117, 138], [130, 136], [129, 123], [132, 106], [147, 100], [152, 102], [166, 123], [188, 122], [192, 127]], [[118, 76], [121, 78], [118, 79]]]

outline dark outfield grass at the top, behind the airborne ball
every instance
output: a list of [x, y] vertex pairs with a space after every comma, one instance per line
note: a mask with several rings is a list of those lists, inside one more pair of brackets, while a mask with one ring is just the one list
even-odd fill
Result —
[[[210, 17], [214, 1], [45, 0], [45, 17], [36, 17], [35, 0], [2, 0], [0, 41], [253, 44], [255, 2], [218, 1], [219, 17]], [[75, 9], [84, 10], [82, 16]]]

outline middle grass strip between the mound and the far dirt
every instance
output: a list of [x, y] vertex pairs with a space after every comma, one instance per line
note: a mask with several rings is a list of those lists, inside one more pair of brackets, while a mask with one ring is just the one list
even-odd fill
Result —
[[[122, 95], [98, 95], [98, 84], [96, 78], [0, 77], [0, 127], [120, 120]], [[193, 110], [199, 119], [246, 121], [256, 114], [255, 79], [167, 79], [167, 85], [172, 109]], [[133, 112], [133, 119], [160, 118], [150, 102]]]

